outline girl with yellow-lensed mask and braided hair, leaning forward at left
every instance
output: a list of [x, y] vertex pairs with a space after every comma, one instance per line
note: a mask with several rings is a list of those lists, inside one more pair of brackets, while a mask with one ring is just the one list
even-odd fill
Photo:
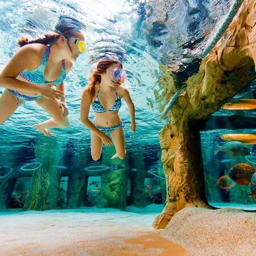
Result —
[[0, 96], [0, 125], [23, 101], [35, 101], [52, 117], [36, 124], [36, 129], [51, 136], [48, 128], [69, 126], [64, 79], [72, 62], [85, 52], [81, 28], [78, 20], [62, 16], [55, 32], [34, 40], [19, 39], [21, 48], [0, 74], [0, 86], [6, 88]]

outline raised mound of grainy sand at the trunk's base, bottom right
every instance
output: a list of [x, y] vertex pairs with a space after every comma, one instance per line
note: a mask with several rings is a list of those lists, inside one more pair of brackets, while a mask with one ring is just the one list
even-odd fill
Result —
[[189, 255], [256, 255], [256, 213], [234, 208], [180, 210], [161, 234]]

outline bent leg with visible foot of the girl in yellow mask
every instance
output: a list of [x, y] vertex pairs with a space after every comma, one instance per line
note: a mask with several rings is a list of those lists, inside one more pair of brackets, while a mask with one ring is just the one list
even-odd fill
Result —
[[60, 109], [60, 103], [57, 100], [49, 100], [48, 98], [39, 98], [36, 103], [46, 110], [46, 112], [51, 115], [51, 119], [38, 123], [35, 128], [41, 131], [44, 135], [51, 136], [52, 133], [47, 128], [66, 128], [69, 126], [69, 121], [67, 117], [62, 117], [64, 109]]

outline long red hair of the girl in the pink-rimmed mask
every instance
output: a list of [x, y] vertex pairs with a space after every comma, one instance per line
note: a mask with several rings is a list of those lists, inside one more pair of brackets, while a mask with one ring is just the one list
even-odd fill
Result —
[[108, 69], [113, 64], [119, 64], [121, 68], [123, 68], [122, 63], [117, 59], [104, 59], [100, 60], [97, 64], [96, 69], [93, 71], [92, 75], [89, 77], [89, 93], [90, 93], [90, 101], [92, 102], [93, 97], [95, 95], [95, 85], [97, 83], [100, 84], [101, 82], [101, 75], [106, 72], [106, 69]]

